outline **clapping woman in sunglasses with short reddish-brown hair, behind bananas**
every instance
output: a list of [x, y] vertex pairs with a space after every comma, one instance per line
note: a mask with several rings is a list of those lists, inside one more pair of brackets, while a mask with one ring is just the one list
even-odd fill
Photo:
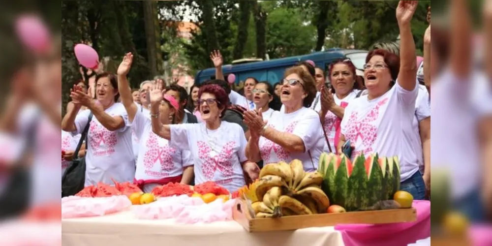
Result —
[[268, 122], [262, 111], [245, 113], [251, 134], [246, 147], [248, 159], [264, 163], [299, 159], [306, 171], [315, 171], [326, 146], [319, 116], [309, 109], [315, 95], [314, 78], [300, 66], [288, 68], [280, 94], [285, 112]]

